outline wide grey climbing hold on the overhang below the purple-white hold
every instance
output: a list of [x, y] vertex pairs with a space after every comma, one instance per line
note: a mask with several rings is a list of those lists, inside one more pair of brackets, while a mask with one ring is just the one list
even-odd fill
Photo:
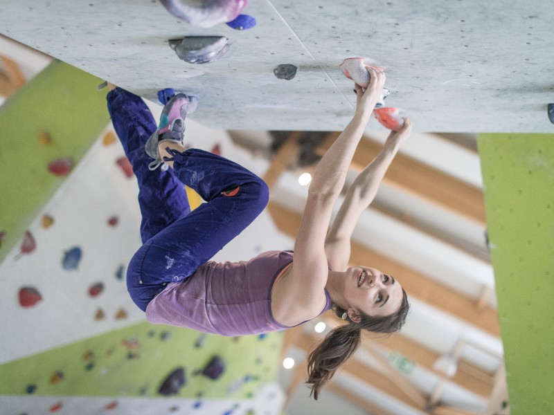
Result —
[[207, 64], [215, 62], [229, 49], [229, 39], [224, 36], [187, 36], [183, 39], [171, 39], [169, 46], [179, 59], [189, 64]]

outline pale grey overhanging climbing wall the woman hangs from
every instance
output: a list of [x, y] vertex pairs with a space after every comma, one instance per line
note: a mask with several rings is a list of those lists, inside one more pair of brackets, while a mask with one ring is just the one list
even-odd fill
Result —
[[[197, 28], [150, 0], [1, 0], [0, 33], [157, 100], [199, 96], [194, 119], [223, 129], [340, 130], [355, 108], [348, 57], [386, 68], [386, 104], [417, 131], [551, 132], [554, 9], [544, 1], [250, 1], [249, 30]], [[213, 63], [169, 39], [223, 36]], [[292, 80], [279, 64], [298, 68]], [[370, 129], [382, 129], [373, 120]]]

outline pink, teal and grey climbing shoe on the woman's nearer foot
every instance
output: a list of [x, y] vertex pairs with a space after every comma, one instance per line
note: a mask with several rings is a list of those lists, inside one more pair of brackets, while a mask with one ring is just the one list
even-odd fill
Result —
[[187, 114], [196, 111], [198, 98], [193, 95], [178, 93], [174, 95], [161, 111], [160, 124], [156, 131], [148, 138], [145, 151], [154, 161], [148, 164], [150, 170], [155, 170], [161, 165], [162, 170], [168, 169], [159, 156], [158, 146], [162, 142], [172, 141], [183, 144], [185, 133], [185, 118]]

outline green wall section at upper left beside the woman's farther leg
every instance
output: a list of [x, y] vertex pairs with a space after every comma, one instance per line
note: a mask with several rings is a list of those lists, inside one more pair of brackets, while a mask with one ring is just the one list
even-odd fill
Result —
[[[0, 261], [64, 180], [48, 164], [76, 164], [109, 122], [100, 82], [53, 62], [0, 107]], [[39, 139], [44, 132], [49, 144]]]

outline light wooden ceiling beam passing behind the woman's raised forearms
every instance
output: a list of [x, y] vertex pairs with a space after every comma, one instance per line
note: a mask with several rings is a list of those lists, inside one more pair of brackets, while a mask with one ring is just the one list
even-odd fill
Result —
[[[337, 139], [339, 133], [329, 133], [319, 147], [323, 154]], [[361, 171], [381, 151], [382, 145], [368, 138], [362, 139], [350, 167]], [[436, 205], [485, 225], [485, 203], [480, 189], [404, 154], [395, 156], [384, 176], [384, 183], [415, 194]]]

